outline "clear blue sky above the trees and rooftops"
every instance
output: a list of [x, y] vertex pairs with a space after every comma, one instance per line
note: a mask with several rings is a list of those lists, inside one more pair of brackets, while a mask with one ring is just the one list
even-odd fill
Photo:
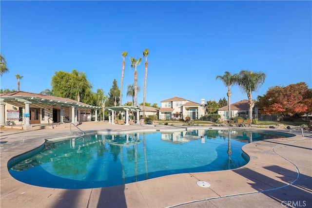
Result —
[[[0, 1], [1, 53], [9, 73], [1, 88], [39, 93], [57, 71], [84, 72], [108, 94], [134, 83], [129, 57], [149, 49], [146, 102], [182, 97], [227, 98], [217, 75], [263, 72], [269, 87], [306, 82], [312, 88], [312, 1]], [[142, 57], [143, 58], [143, 57]], [[137, 67], [143, 101], [144, 59]], [[233, 86], [232, 103], [247, 99]]]

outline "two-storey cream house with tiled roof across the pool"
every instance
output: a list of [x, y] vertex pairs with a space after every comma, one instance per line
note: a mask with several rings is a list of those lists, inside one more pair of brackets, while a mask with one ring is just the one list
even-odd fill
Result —
[[184, 119], [190, 117], [193, 119], [200, 119], [205, 115], [205, 99], [201, 99], [200, 103], [181, 98], [173, 97], [170, 99], [160, 101], [161, 107], [159, 109], [159, 119]]

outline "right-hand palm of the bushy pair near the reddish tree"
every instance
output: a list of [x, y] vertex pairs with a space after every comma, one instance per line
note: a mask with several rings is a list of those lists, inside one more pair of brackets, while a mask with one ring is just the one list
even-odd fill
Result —
[[235, 77], [242, 92], [247, 93], [248, 96], [248, 119], [253, 117], [254, 101], [252, 99], [252, 92], [256, 92], [264, 83], [266, 75], [262, 72], [253, 73], [253, 71], [241, 70]]

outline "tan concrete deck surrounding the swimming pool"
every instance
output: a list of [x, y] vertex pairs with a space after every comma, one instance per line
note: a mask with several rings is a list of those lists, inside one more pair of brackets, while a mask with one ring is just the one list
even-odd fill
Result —
[[[170, 132], [185, 128], [103, 122], [86, 122], [78, 127], [85, 132], [109, 133]], [[289, 133], [289, 130], [248, 129]], [[7, 162], [12, 157], [39, 147], [44, 139], [69, 136], [69, 132], [68, 124], [36, 131], [4, 131], [1, 128], [1, 208], [278, 208], [287, 204], [289, 207], [312, 207], [312, 132], [304, 132], [302, 136], [301, 132], [293, 131], [294, 137], [246, 144], [242, 149], [250, 156], [250, 162], [238, 169], [168, 175], [115, 187], [43, 188], [17, 181], [9, 174]], [[211, 186], [199, 187], [197, 181], [207, 181]]]

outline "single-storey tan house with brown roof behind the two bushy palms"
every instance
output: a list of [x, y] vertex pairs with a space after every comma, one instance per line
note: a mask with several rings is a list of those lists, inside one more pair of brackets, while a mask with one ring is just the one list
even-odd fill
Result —
[[[248, 115], [248, 100], [241, 100], [231, 104], [231, 117], [238, 116], [238, 114], [246, 114]], [[228, 106], [224, 106], [218, 109], [218, 114], [221, 116], [221, 120], [228, 121], [229, 120], [229, 109]], [[254, 107], [253, 109], [253, 117], [258, 117], [258, 108]]]

